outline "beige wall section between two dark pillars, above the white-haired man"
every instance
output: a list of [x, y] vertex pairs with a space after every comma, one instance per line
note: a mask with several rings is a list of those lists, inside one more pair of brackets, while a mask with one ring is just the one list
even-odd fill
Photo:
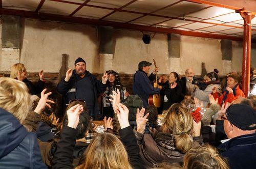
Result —
[[216, 39], [181, 36], [181, 74], [187, 68], [193, 68], [196, 75], [201, 74], [201, 63], [205, 63], [207, 72], [215, 68], [223, 74], [220, 41]]

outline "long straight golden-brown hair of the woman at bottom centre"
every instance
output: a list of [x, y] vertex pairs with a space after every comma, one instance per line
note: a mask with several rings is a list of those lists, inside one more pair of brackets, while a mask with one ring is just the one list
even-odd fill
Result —
[[83, 164], [76, 169], [131, 169], [127, 152], [121, 141], [113, 134], [97, 135], [84, 152]]

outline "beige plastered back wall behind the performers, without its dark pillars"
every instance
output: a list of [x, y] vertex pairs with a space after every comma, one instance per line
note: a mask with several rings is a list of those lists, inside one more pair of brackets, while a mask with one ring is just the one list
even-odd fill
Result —
[[[133, 74], [138, 69], [138, 62], [152, 62], [153, 59], [160, 67], [160, 74], [170, 71], [184, 74], [185, 69], [191, 67], [200, 75], [202, 62], [207, 72], [217, 68], [220, 75], [231, 70], [242, 71], [241, 42], [232, 42], [232, 61], [222, 61], [221, 44], [217, 39], [181, 36], [180, 58], [169, 58], [167, 36], [164, 34], [156, 34], [150, 44], [144, 44], [141, 32], [116, 29], [114, 54], [99, 54], [95, 26], [24, 19], [22, 31], [20, 51], [1, 47], [0, 71], [10, 70], [12, 64], [20, 62], [25, 64], [29, 72], [41, 69], [58, 72], [62, 53], [70, 55], [69, 67], [74, 66], [76, 58], [82, 57], [92, 73], [114, 69]], [[254, 67], [255, 55], [256, 46], [252, 44], [251, 65]]]

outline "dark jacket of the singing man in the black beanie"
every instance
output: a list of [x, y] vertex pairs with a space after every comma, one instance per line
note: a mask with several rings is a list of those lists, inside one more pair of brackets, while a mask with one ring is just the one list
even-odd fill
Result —
[[65, 104], [72, 99], [86, 101], [90, 116], [98, 120], [101, 115], [98, 107], [98, 95], [105, 91], [106, 85], [96, 79], [89, 71], [81, 78], [75, 70], [69, 81], [61, 80], [57, 85], [57, 91], [63, 95]]

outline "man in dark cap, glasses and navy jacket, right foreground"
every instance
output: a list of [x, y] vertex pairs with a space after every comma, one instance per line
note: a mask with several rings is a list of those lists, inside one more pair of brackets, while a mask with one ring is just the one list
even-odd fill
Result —
[[228, 158], [230, 168], [255, 168], [256, 111], [245, 104], [233, 104], [221, 118], [229, 139], [222, 140], [219, 149]]

